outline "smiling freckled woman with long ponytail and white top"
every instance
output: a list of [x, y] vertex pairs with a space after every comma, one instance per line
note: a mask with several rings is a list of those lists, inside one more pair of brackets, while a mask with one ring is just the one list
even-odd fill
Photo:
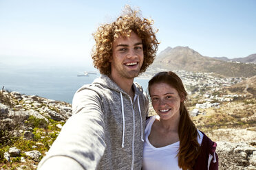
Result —
[[191, 121], [180, 77], [171, 71], [156, 74], [149, 95], [158, 115], [147, 119], [142, 169], [218, 169], [217, 145]]

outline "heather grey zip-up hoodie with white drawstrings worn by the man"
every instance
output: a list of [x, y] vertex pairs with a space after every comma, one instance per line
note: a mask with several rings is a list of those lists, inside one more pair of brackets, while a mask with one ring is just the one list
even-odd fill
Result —
[[133, 87], [134, 100], [101, 75], [77, 90], [73, 115], [39, 169], [141, 169], [148, 101]]

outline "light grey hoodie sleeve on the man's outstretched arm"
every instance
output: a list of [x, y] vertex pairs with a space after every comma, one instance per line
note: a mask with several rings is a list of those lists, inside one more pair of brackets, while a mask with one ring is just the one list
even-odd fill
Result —
[[72, 110], [72, 117], [38, 169], [96, 169], [98, 166], [106, 147], [101, 99], [93, 90], [80, 90], [74, 95]]

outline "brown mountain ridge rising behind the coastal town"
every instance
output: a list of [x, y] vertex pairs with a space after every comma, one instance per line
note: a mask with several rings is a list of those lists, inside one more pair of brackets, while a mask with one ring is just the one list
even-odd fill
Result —
[[225, 62], [202, 56], [189, 47], [167, 47], [156, 57], [152, 68], [217, 73], [226, 77], [252, 77], [256, 64]]

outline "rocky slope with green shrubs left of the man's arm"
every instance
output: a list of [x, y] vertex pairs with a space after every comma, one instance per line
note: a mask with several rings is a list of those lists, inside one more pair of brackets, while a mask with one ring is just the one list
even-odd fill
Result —
[[71, 115], [65, 102], [1, 90], [1, 169], [36, 169]]

